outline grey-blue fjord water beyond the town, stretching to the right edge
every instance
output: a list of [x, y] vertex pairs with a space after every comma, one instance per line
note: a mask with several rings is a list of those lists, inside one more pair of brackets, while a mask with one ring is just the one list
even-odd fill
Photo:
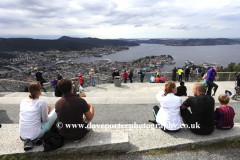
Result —
[[194, 64], [202, 62], [217, 62], [227, 67], [231, 62], [240, 63], [240, 45], [215, 45], [215, 46], [165, 46], [162, 44], [141, 44], [129, 47], [129, 50], [116, 52], [116, 54], [103, 55], [103, 57], [80, 57], [75, 62], [93, 62], [98, 59], [111, 59], [112, 62], [128, 62], [145, 56], [171, 55], [175, 65], [164, 65], [162, 71], [170, 71], [173, 67], [182, 67], [186, 60]]

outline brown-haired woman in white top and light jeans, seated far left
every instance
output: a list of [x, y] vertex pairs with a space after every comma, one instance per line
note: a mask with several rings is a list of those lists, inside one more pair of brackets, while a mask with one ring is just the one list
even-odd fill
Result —
[[39, 99], [41, 95], [39, 82], [30, 83], [28, 91], [30, 92], [29, 98], [22, 100], [20, 104], [20, 137], [23, 140], [40, 139], [46, 131], [50, 130], [57, 115], [55, 109], [51, 111], [51, 107], [47, 106], [44, 100]]

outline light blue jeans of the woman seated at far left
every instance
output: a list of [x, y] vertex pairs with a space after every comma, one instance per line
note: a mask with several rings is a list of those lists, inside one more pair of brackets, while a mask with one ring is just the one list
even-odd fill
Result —
[[42, 122], [42, 126], [41, 126], [42, 132], [36, 139], [41, 139], [44, 136], [44, 133], [51, 129], [56, 119], [57, 119], [57, 114], [55, 112], [55, 109], [53, 109], [49, 114], [49, 120], [47, 122]]

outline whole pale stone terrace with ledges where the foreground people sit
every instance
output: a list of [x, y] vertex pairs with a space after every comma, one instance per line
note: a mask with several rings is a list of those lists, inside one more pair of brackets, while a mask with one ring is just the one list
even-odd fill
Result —
[[[192, 87], [196, 82], [187, 82], [187, 92], [192, 94]], [[218, 91], [215, 98], [215, 106], [220, 106], [217, 100], [218, 95], [224, 94], [225, 90], [234, 93], [234, 81], [218, 81]], [[178, 83], [177, 83], [178, 85]], [[42, 146], [35, 146], [29, 154], [58, 154], [58, 153], [90, 153], [100, 151], [120, 151], [120, 152], [138, 152], [149, 149], [159, 148], [181, 148], [189, 144], [207, 144], [223, 139], [233, 139], [240, 137], [240, 109], [239, 102], [231, 100], [229, 105], [236, 112], [235, 126], [229, 131], [215, 129], [213, 134], [208, 136], [199, 136], [191, 133], [188, 129], [182, 129], [177, 133], [165, 133], [160, 129], [152, 128], [128, 128], [96, 127], [101, 124], [147, 124], [148, 120], [153, 120], [152, 107], [159, 105], [156, 100], [156, 94], [162, 90], [164, 84], [159, 83], [122, 83], [121, 87], [115, 87], [114, 84], [103, 84], [95, 87], [85, 88], [87, 97], [84, 99], [93, 104], [95, 117], [91, 124], [95, 125], [93, 131], [83, 141], [73, 144], [66, 143], [62, 148], [43, 153]], [[0, 129], [0, 156], [5, 154], [25, 154], [23, 142], [19, 138], [19, 104], [28, 97], [24, 92], [2, 92], [0, 93], [0, 123], [3, 127]], [[53, 96], [52, 92], [42, 93], [41, 99], [47, 104], [54, 106], [59, 99]], [[184, 101], [187, 97], [182, 97]]]

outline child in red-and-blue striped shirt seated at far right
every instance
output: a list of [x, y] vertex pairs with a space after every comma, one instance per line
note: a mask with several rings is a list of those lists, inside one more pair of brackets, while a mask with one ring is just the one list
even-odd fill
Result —
[[229, 130], [233, 127], [233, 118], [235, 112], [232, 107], [228, 106], [230, 97], [226, 94], [221, 94], [218, 101], [222, 107], [217, 107], [215, 110], [214, 120], [218, 129]]

